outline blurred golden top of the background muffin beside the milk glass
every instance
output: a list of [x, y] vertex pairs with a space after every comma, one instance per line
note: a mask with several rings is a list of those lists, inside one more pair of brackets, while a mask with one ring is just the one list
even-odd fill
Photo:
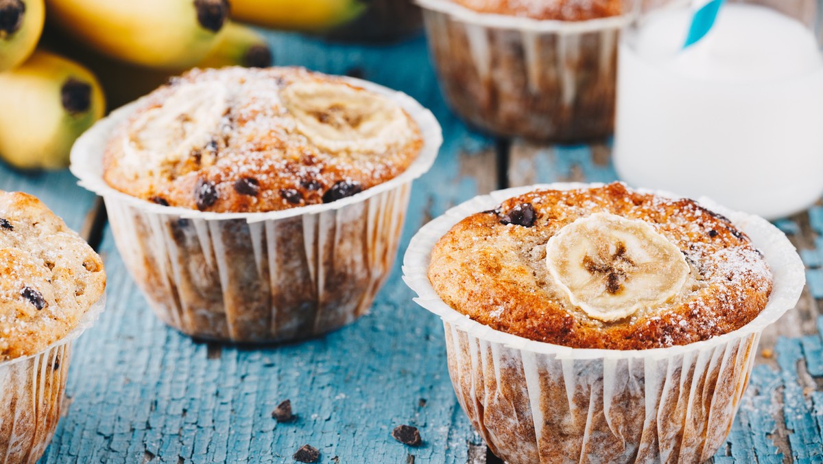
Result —
[[470, 10], [537, 20], [586, 21], [621, 14], [620, 0], [451, 0]]

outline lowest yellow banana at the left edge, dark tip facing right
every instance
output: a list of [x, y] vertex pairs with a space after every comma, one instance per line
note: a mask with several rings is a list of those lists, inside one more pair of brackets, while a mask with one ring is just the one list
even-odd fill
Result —
[[95, 76], [41, 50], [0, 73], [0, 157], [21, 169], [67, 166], [74, 140], [103, 116]]

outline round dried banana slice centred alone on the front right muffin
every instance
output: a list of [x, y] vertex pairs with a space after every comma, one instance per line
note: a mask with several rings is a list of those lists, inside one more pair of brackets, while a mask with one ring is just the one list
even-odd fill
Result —
[[666, 302], [690, 272], [680, 249], [648, 223], [611, 213], [560, 229], [546, 244], [546, 265], [574, 305], [605, 322]]

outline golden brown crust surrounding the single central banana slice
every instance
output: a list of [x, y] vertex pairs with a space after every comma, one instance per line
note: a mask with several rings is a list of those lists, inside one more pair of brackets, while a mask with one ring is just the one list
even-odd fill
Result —
[[[532, 204], [532, 227], [501, 223]], [[596, 212], [642, 219], [681, 249], [698, 281], [662, 307], [612, 323], [574, 307], [546, 270], [546, 242]], [[431, 254], [429, 279], [444, 302], [472, 319], [531, 340], [574, 348], [650, 349], [689, 344], [754, 319], [771, 293], [765, 260], [727, 218], [690, 199], [663, 199], [615, 183], [537, 190], [455, 225]]]

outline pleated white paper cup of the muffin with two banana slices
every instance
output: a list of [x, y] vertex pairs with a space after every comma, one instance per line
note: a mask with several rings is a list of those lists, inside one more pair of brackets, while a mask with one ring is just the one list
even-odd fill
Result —
[[72, 173], [105, 200], [123, 261], [162, 321], [198, 339], [263, 343], [320, 335], [368, 311], [397, 255], [412, 180], [429, 170], [442, 136], [412, 97], [347, 81], [398, 102], [424, 146], [399, 176], [329, 204], [209, 213], [114, 190], [103, 180], [105, 146], [136, 103], [77, 140]]

